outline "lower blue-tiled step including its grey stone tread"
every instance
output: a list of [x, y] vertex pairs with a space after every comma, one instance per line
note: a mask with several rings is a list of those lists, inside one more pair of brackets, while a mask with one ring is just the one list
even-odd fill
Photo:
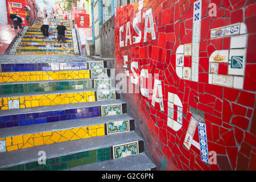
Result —
[[22, 127], [126, 113], [126, 104], [121, 100], [96, 101], [90, 105], [81, 105], [79, 103], [60, 106], [41, 106], [39, 109], [32, 107], [23, 110], [15, 109], [15, 111], [6, 110], [6, 112], [0, 110], [0, 128]]

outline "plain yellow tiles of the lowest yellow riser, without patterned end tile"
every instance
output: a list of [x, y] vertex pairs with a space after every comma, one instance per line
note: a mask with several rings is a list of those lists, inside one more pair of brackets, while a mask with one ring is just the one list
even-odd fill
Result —
[[26, 134], [1, 138], [6, 141], [6, 151], [14, 151], [28, 147], [42, 146], [71, 140], [100, 137], [105, 135], [105, 125], [77, 127], [67, 130], [48, 131], [36, 134]]

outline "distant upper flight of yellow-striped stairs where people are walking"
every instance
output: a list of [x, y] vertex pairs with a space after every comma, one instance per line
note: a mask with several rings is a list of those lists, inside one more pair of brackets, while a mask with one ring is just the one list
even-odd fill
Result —
[[[55, 37], [56, 27], [60, 21], [67, 28], [65, 46], [59, 47]], [[16, 55], [79, 55], [76, 30], [72, 28], [69, 20], [49, 18], [49, 38], [42, 35], [40, 27], [43, 18], [39, 18], [35, 26], [24, 27], [22, 35], [14, 43], [9, 54]]]

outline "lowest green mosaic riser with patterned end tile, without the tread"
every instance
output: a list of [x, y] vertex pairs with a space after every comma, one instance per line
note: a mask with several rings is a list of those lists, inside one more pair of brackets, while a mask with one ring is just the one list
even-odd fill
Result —
[[[119, 145], [119, 147], [111, 146], [106, 148], [100, 148], [97, 150], [77, 152], [75, 154], [59, 156], [57, 158], [46, 159], [46, 164], [39, 164], [38, 161], [36, 161], [25, 164], [19, 164], [18, 166], [1, 168], [0, 171], [61, 171], [68, 168], [114, 159], [114, 149], [117, 150], [116, 148], [118, 148], [119, 150], [120, 147], [125, 147], [128, 152], [125, 150], [122, 151], [121, 156], [119, 158], [128, 155], [136, 155], [144, 151], [143, 144], [143, 141], [139, 140], [133, 143]], [[132, 147], [137, 148], [131, 150]], [[117, 152], [117, 154], [119, 153]]]

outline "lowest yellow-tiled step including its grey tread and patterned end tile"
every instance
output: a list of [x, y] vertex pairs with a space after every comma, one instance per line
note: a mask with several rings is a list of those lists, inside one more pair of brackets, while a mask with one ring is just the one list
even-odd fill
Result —
[[129, 115], [112, 115], [72, 119], [24, 127], [0, 129], [1, 152], [10, 152], [52, 143], [87, 139], [134, 130], [134, 120]]

